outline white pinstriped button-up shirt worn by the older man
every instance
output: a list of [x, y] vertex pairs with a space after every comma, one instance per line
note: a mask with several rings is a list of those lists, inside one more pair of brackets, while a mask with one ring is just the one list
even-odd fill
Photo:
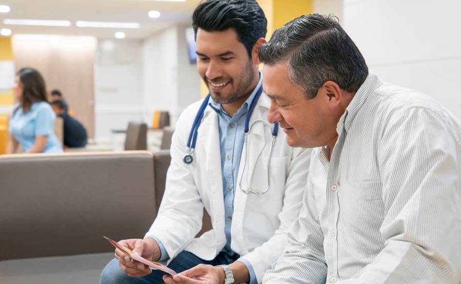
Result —
[[330, 160], [312, 152], [303, 209], [263, 283], [459, 283], [460, 121], [370, 73], [337, 132]]

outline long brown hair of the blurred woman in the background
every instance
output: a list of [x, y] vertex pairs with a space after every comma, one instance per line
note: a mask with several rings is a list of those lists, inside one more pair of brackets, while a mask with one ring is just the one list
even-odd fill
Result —
[[[19, 83], [23, 85], [23, 93], [19, 99], [19, 107], [28, 112], [33, 103], [48, 102], [45, 80], [33, 68], [22, 68], [17, 72]], [[16, 112], [17, 108], [14, 110]]]

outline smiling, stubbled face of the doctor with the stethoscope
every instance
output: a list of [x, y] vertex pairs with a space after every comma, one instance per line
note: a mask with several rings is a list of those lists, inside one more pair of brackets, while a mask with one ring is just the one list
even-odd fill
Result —
[[258, 72], [233, 29], [197, 31], [197, 71], [215, 102], [231, 104], [252, 91]]

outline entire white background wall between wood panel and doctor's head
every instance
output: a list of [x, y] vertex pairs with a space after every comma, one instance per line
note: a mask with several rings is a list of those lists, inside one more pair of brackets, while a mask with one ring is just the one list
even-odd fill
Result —
[[169, 111], [174, 126], [185, 107], [200, 99], [200, 77], [187, 57], [185, 25], [144, 40], [99, 40], [95, 65], [96, 141], [129, 121], [152, 126], [156, 110]]

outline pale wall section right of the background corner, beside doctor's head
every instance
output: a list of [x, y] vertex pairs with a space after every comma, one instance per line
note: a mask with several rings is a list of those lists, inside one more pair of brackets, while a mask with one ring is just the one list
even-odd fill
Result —
[[173, 26], [144, 41], [143, 111], [149, 123], [155, 110], [165, 110], [174, 126], [185, 107], [200, 99], [200, 77], [187, 57], [187, 27]]

